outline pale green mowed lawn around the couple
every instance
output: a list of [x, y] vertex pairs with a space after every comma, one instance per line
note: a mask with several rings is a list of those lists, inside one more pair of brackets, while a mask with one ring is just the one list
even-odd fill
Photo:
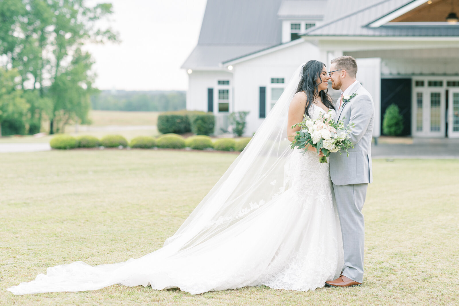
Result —
[[113, 263], [160, 248], [236, 156], [170, 150], [2, 154], [0, 304], [459, 303], [459, 160], [374, 160], [361, 287], [253, 287], [202, 295], [121, 285], [23, 296], [6, 291], [46, 267]]

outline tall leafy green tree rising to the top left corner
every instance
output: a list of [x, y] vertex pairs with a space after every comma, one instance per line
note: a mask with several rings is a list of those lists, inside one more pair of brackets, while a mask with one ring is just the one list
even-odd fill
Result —
[[[29, 133], [45, 114], [50, 134], [69, 120], [84, 122], [95, 76], [88, 42], [116, 41], [109, 28], [96, 22], [112, 14], [112, 5], [87, 5], [86, 0], [0, 0], [0, 51], [6, 67], [16, 67], [28, 101]], [[12, 11], [11, 11], [12, 9]]]

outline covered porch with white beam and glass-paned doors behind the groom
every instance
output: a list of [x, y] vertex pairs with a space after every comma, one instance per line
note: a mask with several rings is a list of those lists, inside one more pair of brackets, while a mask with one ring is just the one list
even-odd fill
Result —
[[393, 103], [404, 118], [402, 135], [459, 138], [458, 38], [342, 39], [319, 41], [323, 61], [341, 55], [357, 59], [357, 79], [375, 100], [375, 137]]

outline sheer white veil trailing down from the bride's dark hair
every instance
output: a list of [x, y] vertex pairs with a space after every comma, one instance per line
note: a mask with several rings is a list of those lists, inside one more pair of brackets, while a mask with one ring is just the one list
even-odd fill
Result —
[[288, 188], [284, 166], [291, 154], [288, 109], [301, 80], [301, 64], [260, 128], [217, 184], [164, 245], [175, 250], [197, 245], [272, 200]]

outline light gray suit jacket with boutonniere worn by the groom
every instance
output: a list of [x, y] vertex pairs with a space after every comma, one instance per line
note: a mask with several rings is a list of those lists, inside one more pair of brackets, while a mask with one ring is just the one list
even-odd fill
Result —
[[[364, 184], [373, 181], [371, 170], [371, 139], [375, 121], [375, 105], [369, 92], [357, 83], [351, 89], [356, 93], [349, 102], [341, 106], [336, 113], [336, 120], [355, 123], [349, 134], [354, 148], [346, 152], [330, 154], [330, 177], [335, 185]], [[338, 102], [339, 103], [339, 102]], [[339, 106], [339, 104], [337, 104]], [[337, 107], [336, 107], [337, 108]]]

